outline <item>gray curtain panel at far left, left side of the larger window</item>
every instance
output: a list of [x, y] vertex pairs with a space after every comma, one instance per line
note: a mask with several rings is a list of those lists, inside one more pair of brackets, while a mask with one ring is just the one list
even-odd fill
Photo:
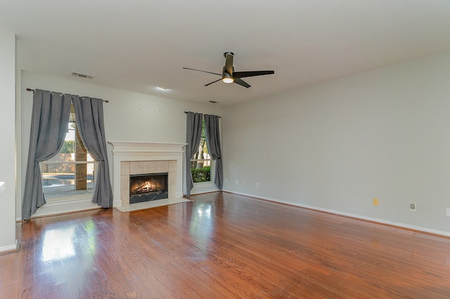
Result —
[[22, 202], [23, 220], [30, 219], [37, 208], [46, 203], [39, 162], [55, 157], [63, 147], [65, 133], [68, 131], [71, 102], [71, 95], [40, 89], [34, 91], [30, 151]]

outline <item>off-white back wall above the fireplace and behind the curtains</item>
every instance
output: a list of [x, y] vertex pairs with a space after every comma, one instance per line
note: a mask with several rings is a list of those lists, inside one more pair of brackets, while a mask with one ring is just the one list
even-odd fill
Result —
[[[185, 111], [220, 115], [220, 109], [210, 103], [182, 102], [152, 95], [96, 86], [94, 81], [74, 77], [73, 80], [48, 77], [42, 74], [22, 72], [22, 168], [20, 177], [25, 180], [33, 93], [26, 88], [39, 88], [62, 93], [87, 95], [109, 100], [104, 103], [106, 140], [144, 142], [186, 142]], [[170, 93], [170, 91], [167, 91]], [[110, 171], [113, 174], [112, 145], [109, 149]], [[23, 194], [25, 182], [20, 192]], [[22, 197], [20, 196], [20, 199]], [[20, 202], [18, 203], [20, 204]], [[45, 206], [44, 206], [45, 207]], [[44, 207], [40, 208], [43, 209]], [[39, 213], [39, 209], [38, 212]], [[20, 218], [20, 213], [17, 214]]]

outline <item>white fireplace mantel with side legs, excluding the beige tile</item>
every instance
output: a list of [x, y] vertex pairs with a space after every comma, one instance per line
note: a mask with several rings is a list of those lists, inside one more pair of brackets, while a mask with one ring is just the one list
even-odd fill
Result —
[[122, 206], [122, 161], [176, 161], [175, 197], [183, 197], [183, 147], [186, 143], [108, 141], [113, 145], [113, 206]]

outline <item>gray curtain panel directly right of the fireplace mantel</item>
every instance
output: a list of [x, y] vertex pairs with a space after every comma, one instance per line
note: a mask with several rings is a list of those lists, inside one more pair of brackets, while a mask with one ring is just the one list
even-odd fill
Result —
[[191, 173], [191, 158], [198, 151], [202, 138], [203, 114], [188, 112], [186, 118], [186, 196], [191, 196], [194, 187]]

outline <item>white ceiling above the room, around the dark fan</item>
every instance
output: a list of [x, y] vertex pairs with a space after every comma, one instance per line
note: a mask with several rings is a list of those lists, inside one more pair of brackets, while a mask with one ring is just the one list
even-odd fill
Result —
[[[450, 1], [1, 0], [0, 29], [29, 72], [231, 105], [447, 51]], [[205, 87], [219, 77], [182, 69], [221, 73], [226, 51], [236, 71], [275, 74]]]

